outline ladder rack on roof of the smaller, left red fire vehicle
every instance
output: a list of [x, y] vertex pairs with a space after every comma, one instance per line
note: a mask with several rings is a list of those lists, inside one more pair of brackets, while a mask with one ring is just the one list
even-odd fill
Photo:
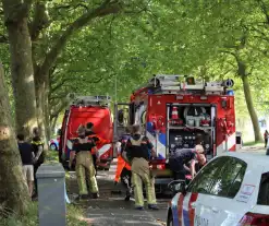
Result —
[[76, 96], [75, 94], [68, 95], [71, 105], [75, 106], [109, 106], [111, 103], [110, 96]]

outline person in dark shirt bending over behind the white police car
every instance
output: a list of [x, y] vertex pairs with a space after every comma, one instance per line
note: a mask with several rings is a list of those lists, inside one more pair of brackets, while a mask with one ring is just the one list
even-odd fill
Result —
[[171, 152], [169, 165], [173, 173], [174, 180], [185, 180], [187, 173], [191, 173], [192, 178], [194, 178], [196, 175], [196, 160], [198, 162], [198, 167], [206, 164], [205, 151], [200, 143], [200, 138], [196, 136], [195, 148], [178, 148]]

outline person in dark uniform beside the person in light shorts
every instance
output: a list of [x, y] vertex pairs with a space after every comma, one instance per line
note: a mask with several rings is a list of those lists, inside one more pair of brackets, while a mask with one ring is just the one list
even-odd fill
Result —
[[38, 190], [37, 190], [36, 173], [39, 166], [41, 166], [41, 164], [44, 164], [44, 160], [45, 160], [44, 141], [41, 140], [39, 135], [38, 128], [33, 129], [33, 139], [30, 143], [32, 143], [34, 154], [35, 154], [35, 158], [34, 158], [35, 193], [33, 198], [37, 198]]

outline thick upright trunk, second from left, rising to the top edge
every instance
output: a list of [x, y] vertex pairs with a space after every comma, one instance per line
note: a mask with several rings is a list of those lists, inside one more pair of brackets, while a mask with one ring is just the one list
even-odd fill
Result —
[[[11, 74], [15, 100], [16, 130], [29, 136], [33, 128], [37, 126], [36, 96], [32, 41], [27, 25], [27, 14], [22, 13], [25, 5], [22, 4], [21, 1], [3, 0], [11, 52]], [[14, 17], [11, 17], [12, 15]]]

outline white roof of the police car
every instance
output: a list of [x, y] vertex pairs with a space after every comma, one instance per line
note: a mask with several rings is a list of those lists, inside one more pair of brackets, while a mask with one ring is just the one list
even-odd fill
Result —
[[229, 152], [224, 156], [236, 157], [249, 165], [261, 165], [269, 170], [269, 155], [266, 155], [265, 152]]

